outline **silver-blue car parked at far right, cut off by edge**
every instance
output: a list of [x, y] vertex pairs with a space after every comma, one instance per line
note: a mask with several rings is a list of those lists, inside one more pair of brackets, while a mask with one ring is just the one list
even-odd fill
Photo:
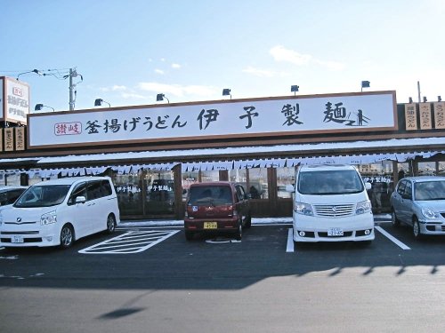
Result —
[[445, 177], [402, 178], [391, 196], [392, 226], [411, 226], [414, 238], [445, 234]]

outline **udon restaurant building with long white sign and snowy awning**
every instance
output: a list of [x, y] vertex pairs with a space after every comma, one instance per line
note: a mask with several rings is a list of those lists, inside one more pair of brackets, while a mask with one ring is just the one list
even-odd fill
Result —
[[121, 218], [183, 217], [191, 184], [233, 180], [255, 217], [292, 215], [302, 164], [356, 165], [376, 212], [397, 180], [445, 170], [445, 103], [395, 91], [29, 112], [28, 85], [0, 77], [0, 185], [109, 175]]

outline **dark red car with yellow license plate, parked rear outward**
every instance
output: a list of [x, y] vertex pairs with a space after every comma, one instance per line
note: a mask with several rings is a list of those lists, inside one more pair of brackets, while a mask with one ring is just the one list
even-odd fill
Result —
[[250, 195], [239, 183], [217, 181], [190, 186], [186, 200], [185, 237], [198, 232], [230, 232], [238, 240], [251, 226]]

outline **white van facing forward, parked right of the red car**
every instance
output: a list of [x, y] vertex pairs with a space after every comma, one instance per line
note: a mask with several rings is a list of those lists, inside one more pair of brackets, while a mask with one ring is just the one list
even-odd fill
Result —
[[352, 165], [304, 165], [294, 186], [294, 241], [374, 240], [374, 218], [367, 189]]

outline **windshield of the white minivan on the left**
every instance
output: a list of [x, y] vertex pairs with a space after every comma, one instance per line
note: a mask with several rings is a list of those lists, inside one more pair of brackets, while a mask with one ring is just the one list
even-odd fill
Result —
[[68, 194], [70, 185], [34, 185], [20, 196], [14, 207], [49, 207], [61, 204]]

